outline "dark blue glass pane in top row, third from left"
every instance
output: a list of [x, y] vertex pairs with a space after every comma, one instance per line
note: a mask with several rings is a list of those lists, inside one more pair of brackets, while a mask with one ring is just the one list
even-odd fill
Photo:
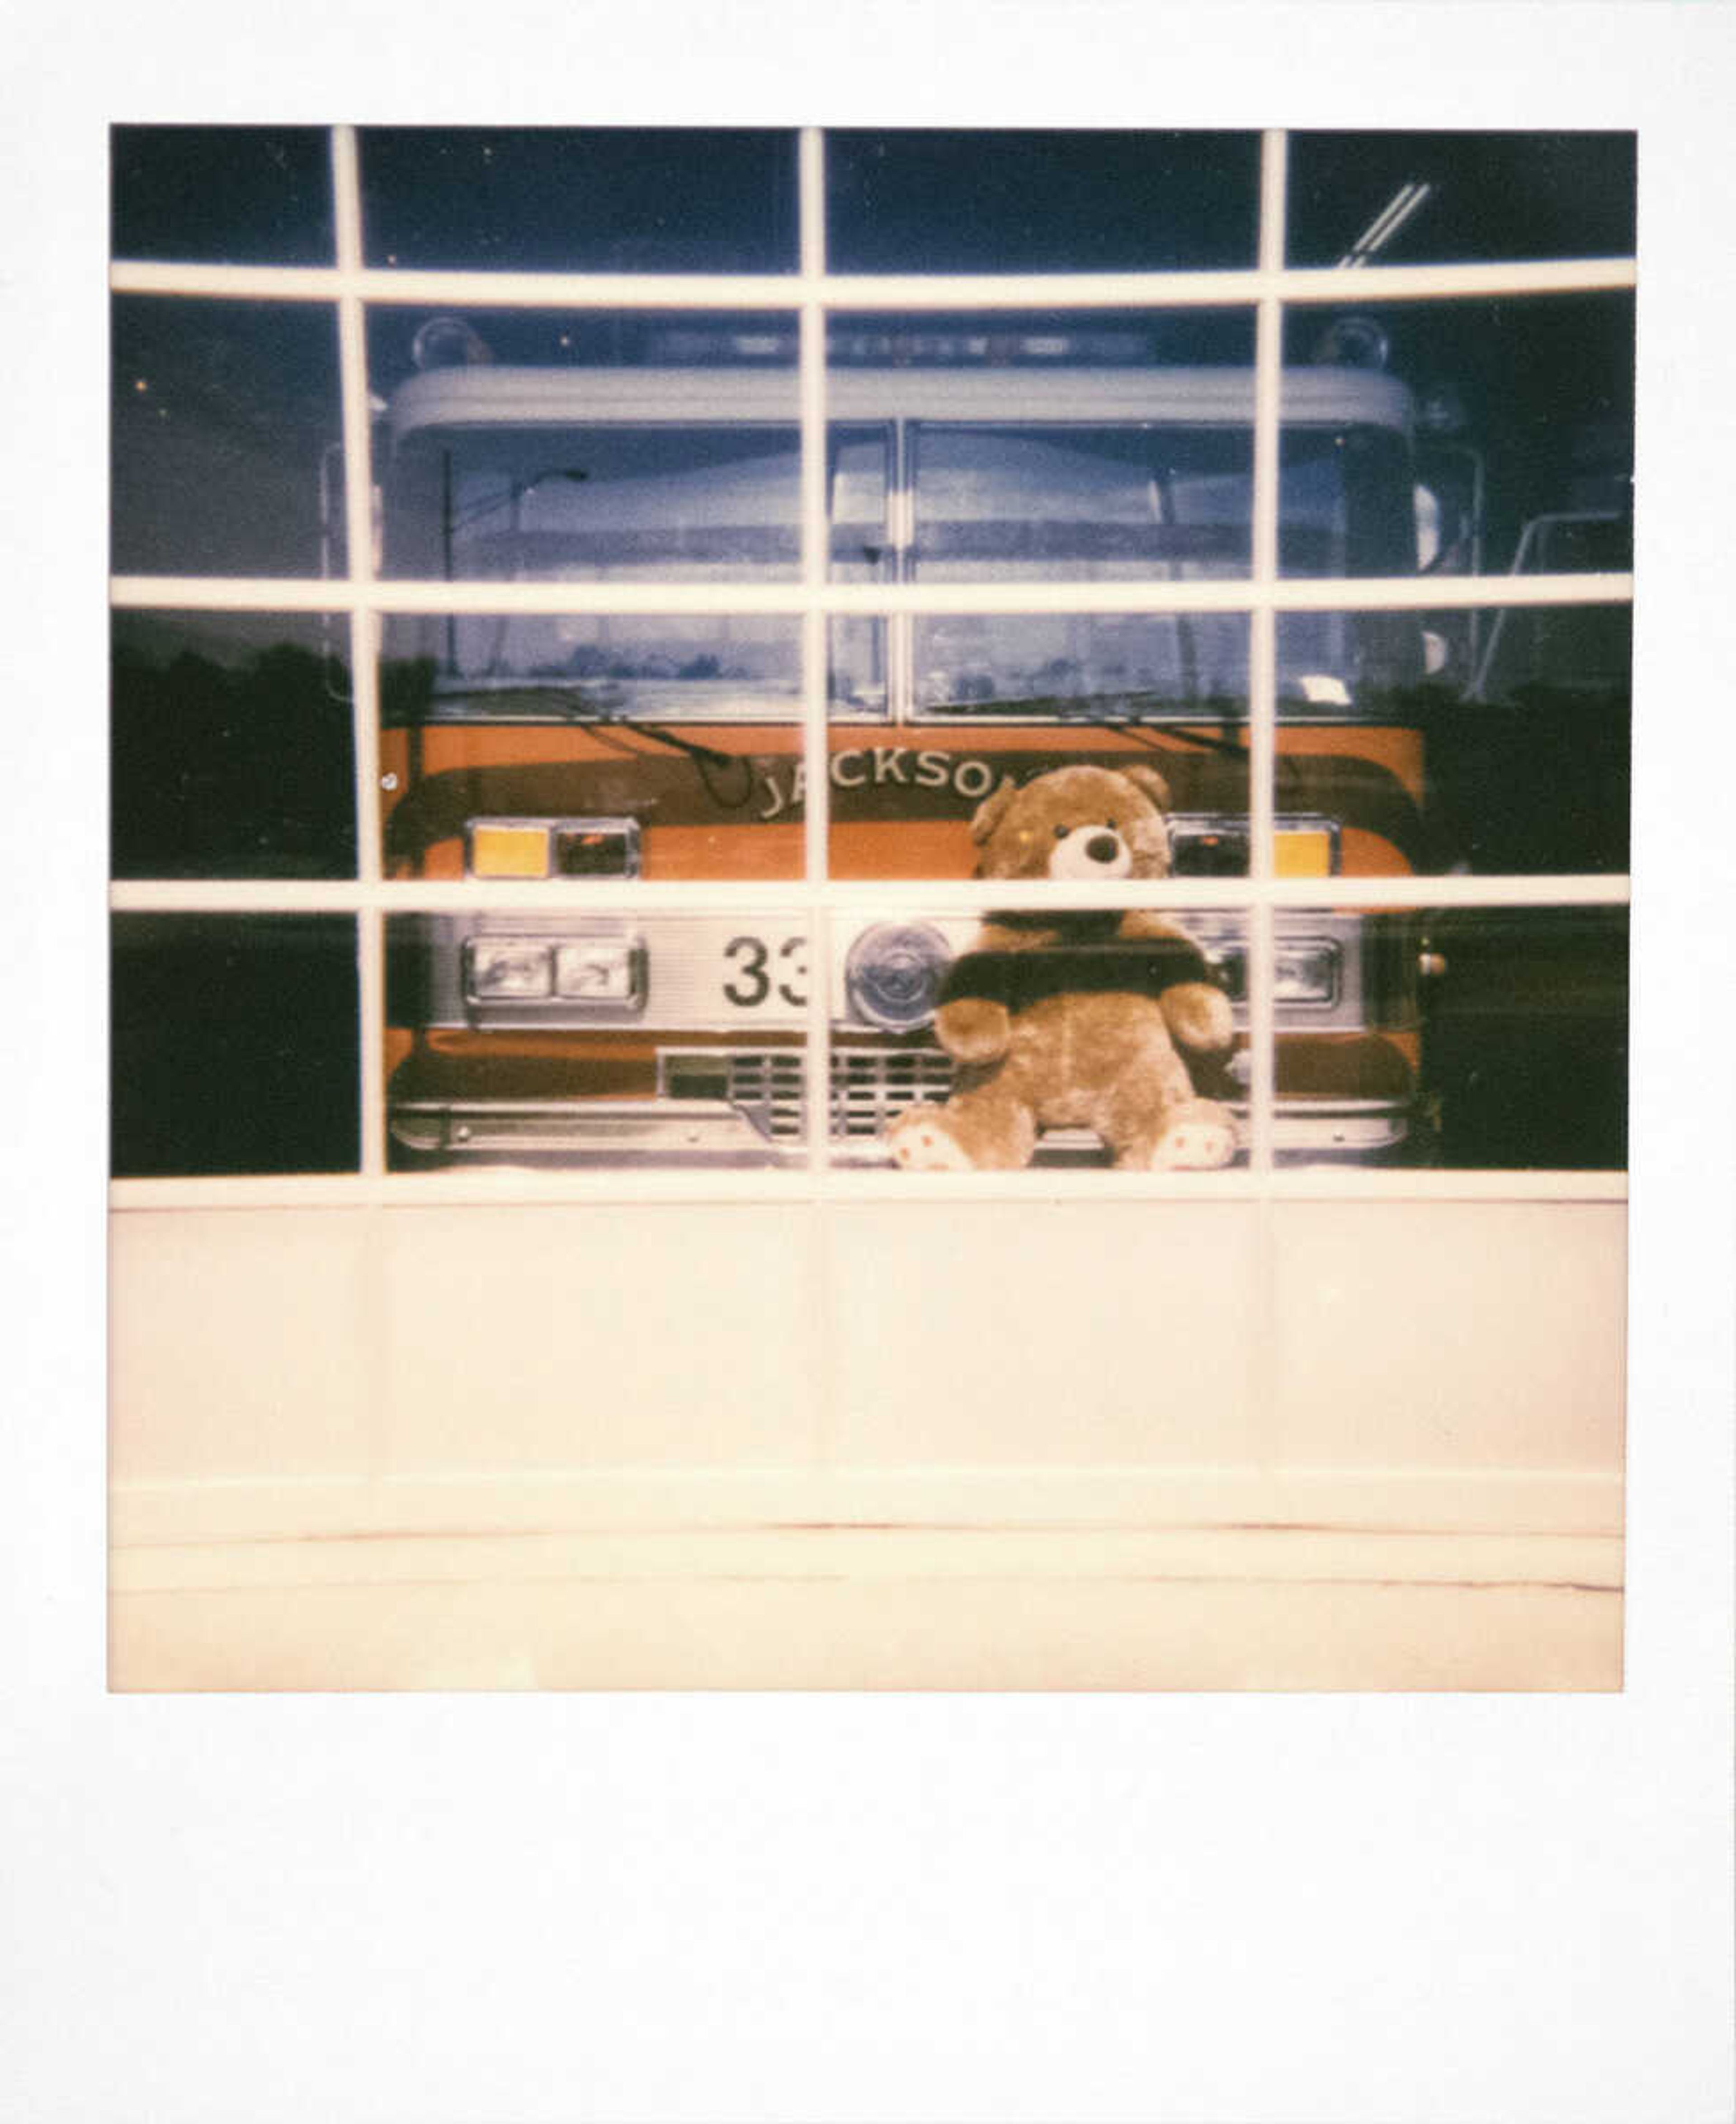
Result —
[[1161, 272], [1252, 266], [1258, 136], [834, 132], [834, 272]]

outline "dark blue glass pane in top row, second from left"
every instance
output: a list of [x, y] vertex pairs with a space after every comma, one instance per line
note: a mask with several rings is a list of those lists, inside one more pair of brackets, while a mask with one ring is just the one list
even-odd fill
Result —
[[369, 266], [794, 272], [794, 132], [386, 125], [361, 136]]

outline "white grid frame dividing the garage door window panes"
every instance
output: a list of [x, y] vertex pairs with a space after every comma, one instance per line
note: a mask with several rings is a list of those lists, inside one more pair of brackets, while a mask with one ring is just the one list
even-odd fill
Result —
[[[331, 881], [276, 879], [129, 879], [110, 884], [110, 911], [331, 911], [357, 926], [357, 1011], [361, 1073], [359, 1168], [335, 1175], [236, 1175], [187, 1179], [110, 1179], [115, 1209], [291, 1206], [363, 1202], [596, 1202], [596, 1200], [997, 1200], [1065, 1198], [1212, 1198], [1275, 1200], [1626, 1200], [1626, 1172], [1604, 1170], [1356, 1170], [1273, 1164], [1275, 1117], [1275, 913], [1280, 907], [1611, 907], [1628, 905], [1630, 877], [1609, 875], [1481, 875], [1386, 879], [1280, 879], [1273, 875], [1278, 665], [1275, 629], [1284, 612], [1392, 612], [1551, 605], [1632, 605], [1632, 573], [1530, 578], [1307, 578], [1278, 573], [1278, 448], [1282, 433], [1282, 327], [1290, 306], [1343, 299], [1454, 299], [1632, 291], [1634, 259], [1537, 259], [1503, 266], [1356, 266], [1288, 268], [1286, 166], [1288, 134], [1261, 136], [1258, 266], [1237, 272], [1131, 274], [830, 274], [826, 268], [826, 134], [802, 127], [798, 138], [798, 270], [794, 274], [569, 274], [569, 272], [429, 272], [363, 263], [359, 136], [331, 127], [335, 200], [335, 263], [308, 268], [191, 266], [159, 259], [117, 259], [117, 295], [191, 299], [244, 297], [318, 302], [335, 310], [340, 338], [340, 410], [346, 474], [348, 567], [344, 578], [115, 576], [112, 610], [323, 612], [346, 616], [352, 663], [352, 746], [357, 788], [357, 877]], [[798, 327], [796, 397], [800, 421], [800, 580], [764, 584], [444, 584], [384, 582], [371, 552], [371, 440], [367, 384], [369, 306], [492, 308], [770, 308]], [[1252, 306], [1254, 350], [1254, 480], [1252, 556], [1246, 578], [1210, 584], [834, 584], [828, 580], [826, 523], [826, 323], [849, 310], [1087, 310], [1104, 306]], [[1524, 588], [1520, 590], [1520, 582]], [[558, 907], [577, 901], [560, 886], [488, 881], [429, 884], [386, 879], [380, 830], [380, 695], [376, 650], [388, 614], [416, 612], [679, 612], [779, 614], [800, 622], [802, 756], [806, 763], [806, 875], [796, 884], [666, 881], [579, 888], [596, 911], [628, 907], [760, 913], [802, 911], [815, 964], [806, 1013], [809, 1134], [806, 1164], [764, 1172], [618, 1172], [569, 1168], [524, 1172], [501, 1168], [450, 1175], [393, 1175], [386, 1162], [384, 1083], [384, 924], [393, 911]], [[1242, 1166], [1199, 1175], [1051, 1172], [1019, 1175], [889, 1175], [851, 1172], [830, 1155], [826, 1096], [830, 1077], [830, 930], [843, 915], [866, 909], [980, 911], [1004, 901], [991, 881], [898, 879], [834, 881], [828, 875], [828, 624], [834, 616], [870, 614], [1044, 614], [1044, 612], [1239, 612], [1250, 620], [1248, 752], [1250, 871], [1225, 879], [1072, 886], [1036, 881], [1034, 901], [1057, 905], [1214, 907], [1248, 924], [1248, 1051], [1250, 1143]]]

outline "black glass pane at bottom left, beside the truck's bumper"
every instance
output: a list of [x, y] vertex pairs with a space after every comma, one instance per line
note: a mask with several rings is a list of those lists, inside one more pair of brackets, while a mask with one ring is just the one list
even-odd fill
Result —
[[112, 918], [112, 1170], [354, 1172], [348, 915]]

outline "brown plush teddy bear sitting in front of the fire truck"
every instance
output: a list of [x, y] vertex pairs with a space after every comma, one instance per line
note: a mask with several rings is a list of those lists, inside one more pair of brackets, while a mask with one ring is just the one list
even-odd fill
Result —
[[[1169, 790], [1150, 767], [1061, 767], [983, 801], [980, 877], [1167, 877]], [[1229, 998], [1201, 952], [1144, 909], [993, 913], [940, 990], [957, 1064], [944, 1107], [887, 1130], [913, 1172], [1027, 1166], [1044, 1128], [1091, 1128], [1116, 1166], [1222, 1166], [1229, 1107], [1195, 1094], [1184, 1054], [1231, 1047]]]

